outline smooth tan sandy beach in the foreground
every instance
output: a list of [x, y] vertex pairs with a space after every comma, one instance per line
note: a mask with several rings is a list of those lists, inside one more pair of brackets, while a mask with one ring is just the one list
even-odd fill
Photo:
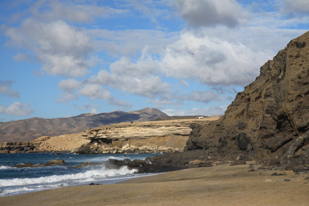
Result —
[[[179, 170], [121, 184], [62, 187], [0, 197], [0, 205], [309, 205], [309, 184], [303, 184], [307, 175], [278, 170], [248, 172], [248, 164], [253, 162]], [[270, 176], [274, 172], [287, 175]]]

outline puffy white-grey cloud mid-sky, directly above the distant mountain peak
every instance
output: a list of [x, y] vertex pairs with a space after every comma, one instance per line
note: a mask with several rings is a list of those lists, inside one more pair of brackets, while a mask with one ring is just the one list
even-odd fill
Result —
[[163, 82], [156, 75], [159, 62], [150, 57], [142, 57], [136, 63], [130, 58], [122, 57], [110, 65], [110, 72], [101, 70], [93, 81], [109, 85], [123, 92], [130, 92], [144, 97], [155, 97], [164, 92], [170, 92], [171, 85]]

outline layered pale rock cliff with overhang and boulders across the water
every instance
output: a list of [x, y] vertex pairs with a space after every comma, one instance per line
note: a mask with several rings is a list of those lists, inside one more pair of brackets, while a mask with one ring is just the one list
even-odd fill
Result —
[[114, 124], [88, 129], [90, 142], [72, 150], [78, 154], [173, 153], [183, 151], [191, 131], [190, 123], [207, 124], [218, 118], [178, 119], [135, 124]]

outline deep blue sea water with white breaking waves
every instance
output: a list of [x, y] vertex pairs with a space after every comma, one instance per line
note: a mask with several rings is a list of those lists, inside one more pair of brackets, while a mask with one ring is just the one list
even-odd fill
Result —
[[[138, 177], [145, 174], [134, 174], [137, 170], [122, 167], [119, 170], [106, 169], [104, 166], [86, 166], [69, 168], [83, 162], [104, 162], [108, 159], [130, 160], [153, 157], [158, 154], [97, 154], [80, 155], [70, 153], [16, 153], [0, 154], [0, 196], [17, 195], [26, 192], [40, 191], [57, 187], [89, 184]], [[21, 163], [42, 164], [50, 160], [64, 160], [67, 165], [53, 165], [35, 168], [14, 168]], [[149, 175], [149, 174], [146, 174]]]

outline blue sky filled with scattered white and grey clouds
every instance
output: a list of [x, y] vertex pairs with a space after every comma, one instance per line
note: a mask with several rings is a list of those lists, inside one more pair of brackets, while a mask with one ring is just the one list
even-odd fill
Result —
[[308, 14], [307, 0], [2, 0], [0, 121], [224, 114]]

